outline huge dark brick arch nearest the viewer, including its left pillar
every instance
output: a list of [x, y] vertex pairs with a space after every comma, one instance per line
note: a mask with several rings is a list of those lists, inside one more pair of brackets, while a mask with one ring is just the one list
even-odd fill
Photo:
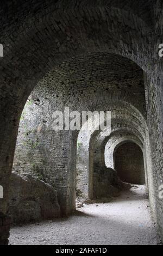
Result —
[[[24, 4], [25, 1], [22, 3]], [[54, 28], [51, 28], [51, 25], [56, 25], [58, 19], [57, 26], [60, 25], [60, 17], [58, 18], [60, 15], [57, 16], [55, 10], [57, 9], [57, 5], [53, 4], [53, 8], [50, 5], [49, 9], [52, 11], [49, 12], [47, 7], [42, 4], [42, 1], [39, 1], [37, 2], [37, 7], [32, 8], [32, 11], [29, 11], [31, 2], [26, 1], [26, 4], [24, 5], [22, 3], [20, 13], [18, 12], [18, 15], [15, 15], [17, 6], [15, 7], [13, 5], [15, 8], [12, 8], [12, 6], [8, 7], [8, 2], [6, 2], [3, 5], [4, 8], [2, 9], [1, 18], [3, 21], [2, 24], [6, 25], [2, 25], [1, 27], [1, 42], [4, 45], [4, 57], [1, 61], [2, 72], [0, 75], [2, 94], [2, 122], [0, 136], [2, 166], [0, 181], [4, 186], [5, 198], [2, 200], [0, 211], [4, 213], [7, 212], [8, 178], [14, 157], [17, 127], [28, 96], [36, 83], [40, 81], [49, 70], [54, 68], [54, 66], [59, 63], [59, 60], [62, 61], [72, 56], [77, 56], [77, 54], [83, 53], [84, 51], [88, 52], [90, 51], [90, 48], [96, 52], [111, 52], [130, 58], [147, 72], [147, 101], [149, 106], [148, 123], [151, 134], [151, 143], [153, 144], [152, 154], [154, 169], [155, 172], [159, 173], [162, 162], [160, 163], [160, 167], [158, 167], [157, 152], [159, 152], [159, 159], [161, 159], [163, 149], [161, 144], [162, 79], [158, 79], [158, 74], [160, 76], [159, 72], [162, 70], [162, 62], [160, 61], [158, 64], [156, 53], [152, 53], [153, 49], [157, 47], [157, 43], [161, 37], [153, 36], [152, 28], [155, 28], [156, 31], [159, 32], [158, 34], [162, 35], [160, 22], [161, 11], [159, 10], [162, 7], [161, 1], [156, 2], [156, 4], [159, 5], [157, 10], [154, 9], [156, 4], [153, 5], [153, 3], [150, 4], [149, 1], [146, 1], [146, 4], [143, 5], [143, 10], [146, 13], [145, 21], [142, 20], [143, 12], [140, 13], [140, 11], [137, 11], [137, 8], [139, 9], [139, 7], [130, 8], [130, 6], [127, 6], [126, 4], [126, 7], [124, 8], [125, 10], [123, 10], [120, 1], [116, 2], [114, 8], [110, 8], [112, 6], [110, 2], [108, 2], [108, 5], [105, 2], [105, 7], [102, 5], [102, 8], [95, 8], [97, 21], [91, 12], [91, 8], [89, 8], [90, 5], [84, 12], [84, 15], [80, 14], [79, 17], [76, 15], [76, 11], [73, 11], [77, 10], [78, 13], [82, 10], [81, 6], [81, 9], [79, 8], [80, 11], [78, 10], [78, 3], [76, 2], [77, 4], [73, 5], [70, 13], [68, 13], [69, 10], [66, 13], [68, 14], [68, 17], [70, 14], [70, 16], [73, 17], [71, 22], [74, 26], [72, 31], [72, 38], [74, 40], [71, 41], [71, 36], [68, 38], [66, 37], [66, 44], [62, 44], [62, 41], [65, 42], [66, 35], [64, 26], [60, 26], [61, 28], [58, 36], [55, 36], [56, 33], [53, 33]], [[46, 3], [52, 3], [52, 1], [46, 1]], [[61, 8], [61, 12], [63, 13], [63, 9], [65, 8], [66, 10], [67, 5], [64, 1], [60, 3], [64, 4], [61, 5], [63, 7]], [[43, 10], [42, 13], [41, 9]], [[152, 13], [151, 9], [154, 9]], [[6, 22], [8, 10], [11, 11], [11, 19], [9, 19], [10, 26], [8, 26], [8, 22]], [[45, 12], [47, 15], [45, 15]], [[14, 15], [18, 16], [17, 21], [15, 20]], [[158, 17], [160, 17], [160, 20], [157, 22], [155, 22], [154, 19], [156, 15], [159, 15]], [[76, 19], [76, 16], [78, 19]], [[80, 29], [82, 22], [76, 21], [83, 19], [83, 17], [86, 22], [83, 29]], [[120, 17], [120, 20], [118, 20], [118, 17]], [[13, 23], [11, 21], [12, 19]], [[34, 25], [28, 22], [30, 19], [34, 21]], [[62, 19], [66, 18], [64, 17]], [[110, 21], [107, 23], [109, 27], [106, 26], [106, 20]], [[92, 21], [95, 23], [95, 26], [92, 26]], [[151, 28], [147, 27], [146, 24], [148, 22]], [[87, 26], [88, 23], [90, 26]], [[101, 25], [100, 29], [96, 23]], [[111, 27], [112, 25], [113, 27]], [[112, 28], [114, 31], [112, 31]], [[108, 33], [108, 31], [110, 33]], [[56, 41], [53, 44], [54, 38]], [[154, 60], [156, 60], [156, 65]], [[158, 86], [158, 88], [156, 88], [156, 86]], [[153, 122], [152, 120], [154, 115], [156, 115], [156, 122]], [[156, 126], [159, 128], [156, 129]], [[8, 139], [9, 134], [10, 140]], [[155, 187], [158, 187], [159, 180], [159, 175], [156, 174], [154, 179]], [[71, 190], [71, 188], [69, 189]], [[158, 205], [160, 205], [160, 202], [158, 202]], [[157, 211], [158, 215], [161, 216], [161, 206], [158, 206]]]

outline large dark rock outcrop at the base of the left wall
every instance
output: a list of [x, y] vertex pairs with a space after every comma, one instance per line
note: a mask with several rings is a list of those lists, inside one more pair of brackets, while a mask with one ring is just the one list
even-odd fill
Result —
[[11, 174], [9, 198], [12, 223], [53, 220], [60, 217], [57, 191], [30, 174]]

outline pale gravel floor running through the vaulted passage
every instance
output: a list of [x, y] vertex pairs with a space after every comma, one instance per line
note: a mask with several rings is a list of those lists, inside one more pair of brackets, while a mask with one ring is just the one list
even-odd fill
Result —
[[145, 186], [111, 203], [84, 205], [68, 218], [11, 229], [10, 245], [157, 245]]

